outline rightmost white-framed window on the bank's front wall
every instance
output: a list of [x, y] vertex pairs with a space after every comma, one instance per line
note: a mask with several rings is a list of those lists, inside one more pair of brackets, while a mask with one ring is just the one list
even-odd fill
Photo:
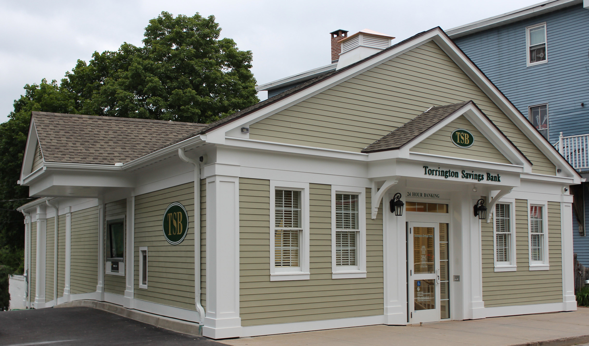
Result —
[[530, 232], [528, 235], [530, 270], [548, 270], [546, 205], [540, 203], [530, 203]]

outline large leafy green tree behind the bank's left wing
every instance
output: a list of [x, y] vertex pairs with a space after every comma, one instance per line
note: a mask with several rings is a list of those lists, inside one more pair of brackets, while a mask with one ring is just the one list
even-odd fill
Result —
[[24, 87], [0, 124], [0, 265], [6, 271], [22, 272], [24, 260], [23, 216], [14, 209], [28, 197], [16, 181], [31, 111], [209, 123], [249, 107], [259, 101], [252, 52], [219, 39], [220, 32], [214, 16], [161, 12], [145, 28], [144, 46], [94, 52], [61, 84], [43, 79]]

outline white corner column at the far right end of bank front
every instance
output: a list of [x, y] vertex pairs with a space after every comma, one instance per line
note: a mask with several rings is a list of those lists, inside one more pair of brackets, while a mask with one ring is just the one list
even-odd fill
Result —
[[560, 227], [562, 244], [562, 301], [565, 311], [577, 310], [573, 262], [573, 204], [561, 202]]

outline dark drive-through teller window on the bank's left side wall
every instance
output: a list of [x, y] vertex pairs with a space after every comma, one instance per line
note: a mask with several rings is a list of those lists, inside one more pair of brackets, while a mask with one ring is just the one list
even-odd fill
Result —
[[107, 220], [106, 272], [113, 275], [125, 273], [125, 219]]

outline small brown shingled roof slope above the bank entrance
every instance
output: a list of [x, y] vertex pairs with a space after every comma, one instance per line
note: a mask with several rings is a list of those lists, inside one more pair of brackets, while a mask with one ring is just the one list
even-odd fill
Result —
[[[438, 106], [428, 109], [417, 117], [396, 128], [388, 135], [364, 148], [362, 152], [376, 152], [392, 149], [399, 149], [409, 143], [413, 138], [438, 124], [454, 112], [458, 111], [472, 101], [459, 102], [457, 104]], [[474, 102], [472, 102], [474, 104]]]

